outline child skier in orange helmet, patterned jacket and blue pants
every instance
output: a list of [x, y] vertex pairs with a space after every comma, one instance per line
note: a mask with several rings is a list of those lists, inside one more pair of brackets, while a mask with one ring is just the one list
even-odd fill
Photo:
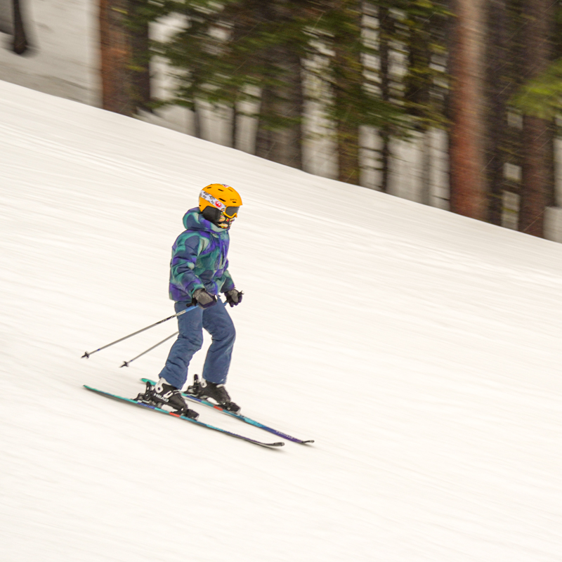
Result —
[[226, 259], [228, 230], [241, 206], [240, 195], [229, 185], [207, 185], [200, 192], [199, 207], [190, 209], [183, 217], [185, 230], [172, 247], [170, 299], [175, 301], [176, 313], [194, 305], [197, 308], [178, 316], [178, 339], [171, 346], [166, 365], [149, 398], [153, 403], [168, 404], [177, 413], [194, 419], [199, 414], [188, 409], [181, 388], [187, 380], [191, 358], [203, 345], [203, 328], [211, 334], [212, 343], [203, 367], [203, 380], [189, 391], [200, 398], [211, 398], [230, 412], [240, 411], [224, 386], [235, 329], [218, 295], [223, 293], [231, 307], [242, 301], [242, 292], [235, 289]]

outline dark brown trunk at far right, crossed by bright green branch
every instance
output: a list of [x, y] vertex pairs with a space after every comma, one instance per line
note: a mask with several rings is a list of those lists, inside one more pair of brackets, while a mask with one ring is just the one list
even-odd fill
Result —
[[[525, 79], [542, 74], [549, 65], [549, 37], [553, 13], [551, 0], [526, 0]], [[544, 211], [549, 194], [549, 128], [547, 119], [523, 117], [523, 170], [518, 230], [544, 237]]]

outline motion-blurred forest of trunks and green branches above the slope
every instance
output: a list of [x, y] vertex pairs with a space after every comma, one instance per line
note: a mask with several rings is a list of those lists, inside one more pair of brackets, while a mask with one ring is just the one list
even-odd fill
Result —
[[[23, 1], [0, 0], [13, 56], [41, 50], [29, 31], [41, 18]], [[53, 10], [67, 22], [56, 33], [72, 34], [71, 13], [90, 17], [93, 105], [153, 122], [182, 108], [176, 129], [220, 130], [233, 148], [395, 195], [393, 170], [414, 159], [414, 199], [539, 237], [559, 207], [562, 0], [58, 0]], [[18, 81], [2, 62], [0, 79]]]

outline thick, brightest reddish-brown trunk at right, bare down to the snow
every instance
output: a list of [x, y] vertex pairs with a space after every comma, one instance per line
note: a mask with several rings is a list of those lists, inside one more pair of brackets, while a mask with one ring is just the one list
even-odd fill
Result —
[[485, 218], [483, 0], [452, 0], [450, 46], [450, 210]]

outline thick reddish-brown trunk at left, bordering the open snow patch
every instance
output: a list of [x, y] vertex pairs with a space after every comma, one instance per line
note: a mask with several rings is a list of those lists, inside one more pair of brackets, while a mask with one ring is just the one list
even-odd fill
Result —
[[100, 0], [102, 107], [122, 115], [133, 115], [128, 9], [127, 0]]

